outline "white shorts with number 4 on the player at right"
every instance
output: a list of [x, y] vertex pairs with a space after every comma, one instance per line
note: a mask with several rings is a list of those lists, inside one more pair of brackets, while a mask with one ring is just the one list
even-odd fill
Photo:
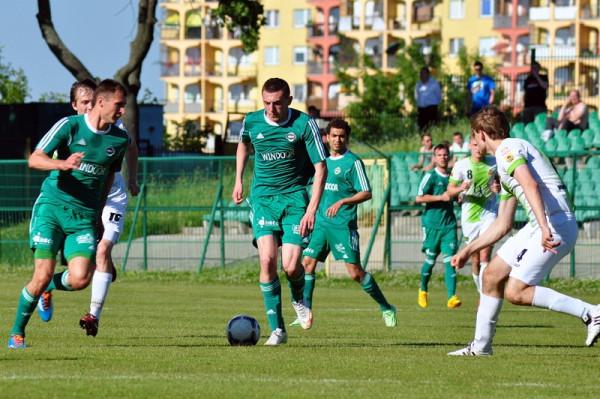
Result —
[[549, 219], [550, 230], [560, 245], [556, 254], [542, 248], [542, 231], [527, 223], [517, 234], [509, 238], [497, 255], [511, 268], [510, 277], [528, 285], [538, 285], [552, 268], [567, 255], [577, 241], [577, 222], [572, 215], [561, 214]]

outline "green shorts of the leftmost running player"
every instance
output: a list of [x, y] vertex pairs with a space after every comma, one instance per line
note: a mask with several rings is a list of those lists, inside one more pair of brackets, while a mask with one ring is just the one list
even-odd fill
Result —
[[96, 256], [95, 215], [55, 202], [36, 201], [29, 225], [29, 247], [36, 259], [54, 259], [64, 243], [67, 260]]

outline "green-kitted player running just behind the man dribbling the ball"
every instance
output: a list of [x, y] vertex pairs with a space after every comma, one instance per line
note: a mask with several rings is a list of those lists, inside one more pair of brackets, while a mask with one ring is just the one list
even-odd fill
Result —
[[344, 261], [350, 277], [379, 304], [383, 320], [395, 327], [396, 308], [385, 299], [375, 278], [360, 265], [357, 205], [371, 199], [371, 186], [359, 157], [348, 150], [350, 126], [342, 119], [327, 125], [331, 155], [327, 158], [325, 191], [317, 211], [315, 229], [304, 250], [304, 305], [312, 309], [315, 269], [331, 251], [336, 260]]

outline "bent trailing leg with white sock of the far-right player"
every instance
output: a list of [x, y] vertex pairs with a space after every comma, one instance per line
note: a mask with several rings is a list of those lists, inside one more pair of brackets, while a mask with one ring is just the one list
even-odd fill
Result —
[[[580, 318], [588, 324], [586, 345], [592, 346], [600, 335], [600, 308], [553, 289], [539, 286], [542, 279], [575, 246], [577, 224], [573, 220], [557, 228], [553, 227], [552, 235], [561, 243], [556, 248], [556, 254], [544, 251], [539, 245], [541, 239], [539, 231], [532, 236], [529, 245], [523, 245], [519, 252], [519, 259], [514, 260], [519, 267], [513, 268], [510, 274], [505, 292], [506, 299], [515, 305], [533, 305]], [[536, 240], [537, 245], [535, 245]]]

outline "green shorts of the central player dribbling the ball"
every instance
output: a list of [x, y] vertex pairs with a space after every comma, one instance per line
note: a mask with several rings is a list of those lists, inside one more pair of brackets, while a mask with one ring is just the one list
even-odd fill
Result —
[[253, 197], [250, 204], [254, 239], [273, 235], [282, 244], [306, 246], [305, 237], [300, 235], [300, 221], [308, 206], [306, 190]]

